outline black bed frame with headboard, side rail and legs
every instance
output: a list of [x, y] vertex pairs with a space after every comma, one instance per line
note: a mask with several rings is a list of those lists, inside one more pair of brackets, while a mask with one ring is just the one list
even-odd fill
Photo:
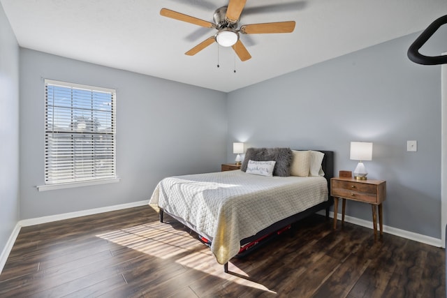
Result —
[[[323, 171], [325, 173], [324, 177], [328, 181], [328, 190], [330, 190], [330, 179], [334, 177], [334, 151], [323, 151], [318, 150], [320, 152], [323, 152], [323, 162], [321, 163], [321, 166], [323, 167]], [[320, 204], [316, 204], [313, 207], [310, 207], [309, 209], [306, 209], [305, 211], [301, 211], [298, 214], [294, 214], [293, 216], [289, 216], [288, 218], [284, 218], [281, 221], [277, 221], [276, 223], [273, 223], [272, 225], [268, 226], [264, 230], [259, 231], [258, 233], [254, 234], [251, 237], [244, 238], [240, 241], [240, 245], [243, 246], [244, 244], [249, 244], [250, 242], [256, 241], [257, 239], [261, 239], [265, 237], [266, 235], [274, 234], [275, 232], [279, 230], [284, 230], [284, 228], [287, 228], [291, 226], [293, 223], [296, 223], [297, 221], [300, 221], [303, 218], [306, 218], [307, 216], [310, 216], [312, 214], [315, 214], [318, 211], [321, 211], [325, 209], [326, 211], [326, 218], [329, 218], [329, 209], [330, 206], [334, 204], [334, 199], [330, 196], [330, 191], [328, 191], [328, 200], [325, 202], [321, 202]], [[170, 216], [173, 216], [172, 214], [169, 214], [168, 212], [164, 211], [160, 208], [160, 222], [163, 223], [163, 214], [166, 213]], [[175, 218], [175, 216], [173, 216]], [[190, 227], [189, 227], [190, 228]], [[193, 229], [191, 229], [193, 230]], [[197, 234], [197, 231], [194, 231]], [[259, 247], [259, 246], [257, 246]], [[246, 255], [244, 253], [243, 255]], [[237, 255], [238, 256], [238, 255]], [[236, 256], [236, 257], [237, 257]], [[242, 255], [239, 255], [242, 256]], [[228, 262], [223, 265], [223, 270], [228, 273]]]

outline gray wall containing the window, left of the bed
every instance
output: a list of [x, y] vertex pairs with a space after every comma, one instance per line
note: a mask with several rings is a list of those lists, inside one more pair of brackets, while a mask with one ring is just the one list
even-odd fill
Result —
[[[44, 78], [117, 89], [116, 184], [44, 184]], [[149, 200], [160, 179], [217, 172], [226, 159], [226, 94], [20, 49], [21, 218]]]

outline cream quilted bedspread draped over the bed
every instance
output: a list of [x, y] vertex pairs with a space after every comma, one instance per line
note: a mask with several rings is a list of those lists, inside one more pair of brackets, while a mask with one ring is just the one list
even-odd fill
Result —
[[324, 177], [263, 177], [235, 170], [165, 178], [149, 204], [212, 237], [211, 251], [225, 264], [239, 252], [241, 239], [325, 200]]

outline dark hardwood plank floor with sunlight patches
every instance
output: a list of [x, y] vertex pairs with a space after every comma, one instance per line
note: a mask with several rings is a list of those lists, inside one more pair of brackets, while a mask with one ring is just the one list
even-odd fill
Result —
[[223, 272], [151, 207], [24, 227], [0, 297], [445, 297], [445, 252], [311, 216]]

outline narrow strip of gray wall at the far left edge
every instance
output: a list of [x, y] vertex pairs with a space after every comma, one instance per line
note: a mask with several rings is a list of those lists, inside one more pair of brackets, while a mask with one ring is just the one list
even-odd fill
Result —
[[0, 254], [19, 206], [19, 46], [0, 4]]

